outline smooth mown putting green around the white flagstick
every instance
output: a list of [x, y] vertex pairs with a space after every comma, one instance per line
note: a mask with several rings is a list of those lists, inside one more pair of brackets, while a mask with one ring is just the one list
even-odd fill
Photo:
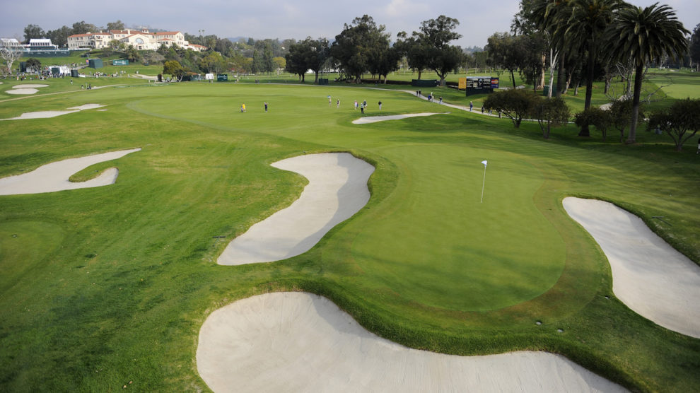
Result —
[[561, 276], [564, 243], [535, 207], [543, 180], [531, 165], [462, 146], [381, 153], [402, 175], [384, 203], [391, 212], [366, 222], [352, 255], [382, 286], [431, 307], [484, 311], [535, 298]]

